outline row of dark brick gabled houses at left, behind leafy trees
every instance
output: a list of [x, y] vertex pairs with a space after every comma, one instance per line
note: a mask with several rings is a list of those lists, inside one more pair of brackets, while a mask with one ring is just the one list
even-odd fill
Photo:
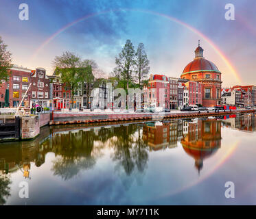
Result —
[[[84, 83], [84, 92], [82, 92], [82, 84], [73, 95], [71, 101], [71, 90], [65, 83], [60, 81], [58, 75], [46, 75], [44, 68], [36, 68], [36, 70], [24, 68], [14, 65], [10, 69], [10, 77], [8, 81], [0, 83], [0, 107], [18, 107], [23, 96], [21, 106], [49, 107], [50, 110], [60, 110], [62, 108], [69, 109], [71, 104], [73, 108], [88, 106], [91, 99], [86, 95], [86, 86], [92, 90], [92, 84]], [[31, 85], [30, 85], [31, 83]], [[28, 90], [27, 94], [25, 92]]]

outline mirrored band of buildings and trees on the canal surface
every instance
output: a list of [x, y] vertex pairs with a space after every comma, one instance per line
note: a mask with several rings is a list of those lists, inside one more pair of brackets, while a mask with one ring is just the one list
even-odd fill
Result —
[[220, 149], [222, 126], [252, 132], [256, 130], [255, 118], [255, 114], [244, 114], [98, 127], [43, 127], [35, 140], [1, 143], [0, 204], [10, 196], [12, 173], [20, 172], [23, 178], [32, 181], [32, 172], [45, 164], [47, 153], [55, 155], [49, 171], [62, 181], [69, 181], [95, 168], [108, 152], [115, 174], [128, 190], [135, 180], [138, 185], [143, 184], [150, 153], [181, 145], [183, 152], [193, 157], [199, 172], [205, 159]]

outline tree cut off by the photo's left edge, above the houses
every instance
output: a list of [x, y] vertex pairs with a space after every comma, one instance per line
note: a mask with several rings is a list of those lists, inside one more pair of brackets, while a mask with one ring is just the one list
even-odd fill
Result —
[[10, 73], [8, 69], [12, 68], [12, 57], [10, 51], [7, 50], [7, 45], [3, 43], [0, 36], [0, 83], [1, 80], [8, 80]]

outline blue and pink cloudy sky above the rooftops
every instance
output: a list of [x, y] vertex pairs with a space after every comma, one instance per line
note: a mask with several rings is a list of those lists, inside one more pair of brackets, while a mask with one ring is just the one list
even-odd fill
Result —
[[[29, 19], [19, 19], [27, 3]], [[225, 19], [225, 5], [235, 20]], [[71, 51], [95, 60], [109, 74], [127, 39], [143, 42], [150, 73], [180, 77], [194, 50], [222, 73], [222, 87], [256, 85], [256, 1], [239, 0], [1, 0], [0, 36], [13, 64], [45, 68], [52, 75], [56, 55]]]

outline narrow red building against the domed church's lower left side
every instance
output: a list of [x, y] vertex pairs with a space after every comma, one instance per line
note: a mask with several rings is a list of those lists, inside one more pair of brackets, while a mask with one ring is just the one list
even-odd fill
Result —
[[189, 93], [189, 105], [202, 105], [202, 83], [187, 81], [185, 86]]

